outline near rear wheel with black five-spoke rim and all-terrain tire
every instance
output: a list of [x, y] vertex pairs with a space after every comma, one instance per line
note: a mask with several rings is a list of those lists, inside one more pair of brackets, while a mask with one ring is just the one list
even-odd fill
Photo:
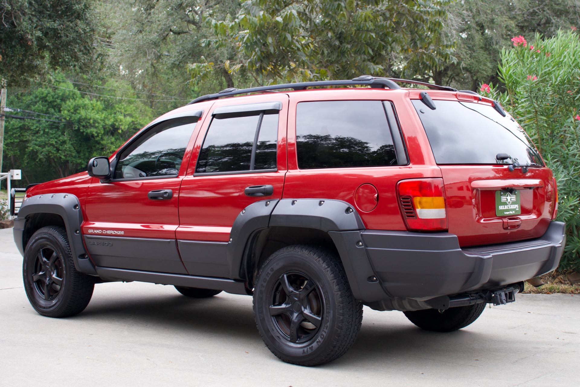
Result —
[[299, 366], [344, 355], [362, 323], [340, 259], [314, 245], [274, 252], [260, 267], [253, 295], [258, 331], [270, 351]]

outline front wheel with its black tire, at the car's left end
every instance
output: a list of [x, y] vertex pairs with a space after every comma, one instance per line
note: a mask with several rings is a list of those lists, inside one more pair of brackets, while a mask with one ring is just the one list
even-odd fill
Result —
[[81, 313], [93, 295], [95, 280], [79, 273], [63, 227], [37, 230], [24, 249], [24, 290], [42, 316], [69, 317]]

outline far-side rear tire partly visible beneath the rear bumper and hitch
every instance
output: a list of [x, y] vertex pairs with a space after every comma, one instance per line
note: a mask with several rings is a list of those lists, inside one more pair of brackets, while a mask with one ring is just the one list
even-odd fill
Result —
[[439, 313], [436, 309], [403, 312], [411, 323], [427, 331], [452, 332], [473, 323], [485, 309], [485, 303], [457, 306]]

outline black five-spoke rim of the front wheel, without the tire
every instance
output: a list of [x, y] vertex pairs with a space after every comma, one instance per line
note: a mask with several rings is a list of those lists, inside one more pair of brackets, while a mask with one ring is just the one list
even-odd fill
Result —
[[38, 249], [32, 282], [45, 301], [54, 299], [63, 285], [63, 261], [49, 246]]

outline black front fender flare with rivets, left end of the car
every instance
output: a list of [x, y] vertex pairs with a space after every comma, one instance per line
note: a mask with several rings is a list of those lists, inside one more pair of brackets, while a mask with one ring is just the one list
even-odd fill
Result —
[[49, 193], [32, 196], [23, 201], [18, 217], [14, 219], [14, 242], [22, 255], [24, 255], [24, 227], [28, 217], [33, 214], [56, 214], [63, 218], [75, 269], [81, 273], [97, 275], [82, 241], [83, 217], [78, 197], [69, 193]]

